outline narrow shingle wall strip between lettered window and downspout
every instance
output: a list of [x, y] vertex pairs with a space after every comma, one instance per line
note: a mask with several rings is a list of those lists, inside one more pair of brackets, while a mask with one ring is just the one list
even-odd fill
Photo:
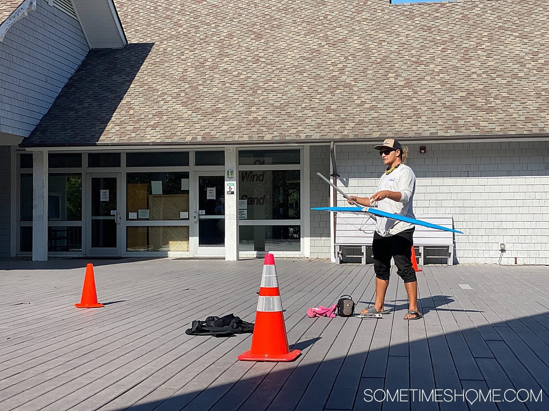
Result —
[[[310, 207], [327, 207], [328, 185], [316, 173], [330, 174], [330, 147], [311, 146], [310, 149]], [[311, 210], [311, 258], [330, 258], [330, 213]]]

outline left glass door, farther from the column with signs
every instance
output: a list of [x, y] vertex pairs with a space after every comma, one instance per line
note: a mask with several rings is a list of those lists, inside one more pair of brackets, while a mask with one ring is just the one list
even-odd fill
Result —
[[88, 256], [121, 255], [120, 174], [87, 175]]

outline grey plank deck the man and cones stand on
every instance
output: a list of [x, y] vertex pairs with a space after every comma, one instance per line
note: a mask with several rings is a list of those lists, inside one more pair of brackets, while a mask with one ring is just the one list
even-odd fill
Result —
[[[288, 341], [302, 355], [255, 363], [237, 361], [249, 334], [184, 330], [226, 313], [253, 322], [261, 260], [93, 261], [105, 307], [82, 310], [74, 304], [86, 262], [0, 260], [1, 410], [547, 409], [549, 267], [424, 266], [425, 316], [407, 322], [394, 273], [386, 306], [395, 312], [385, 318], [310, 319], [307, 307], [340, 294], [359, 310], [369, 304], [373, 267], [277, 259]], [[408, 389], [425, 396], [365, 401], [377, 389], [378, 399]], [[434, 401], [434, 389], [500, 401], [507, 389], [531, 390], [537, 401]]]

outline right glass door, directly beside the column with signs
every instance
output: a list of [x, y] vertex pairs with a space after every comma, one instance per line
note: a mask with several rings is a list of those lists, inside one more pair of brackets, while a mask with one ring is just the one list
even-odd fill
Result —
[[225, 255], [225, 176], [222, 172], [204, 172], [197, 178], [194, 222], [198, 225], [198, 250], [195, 255]]

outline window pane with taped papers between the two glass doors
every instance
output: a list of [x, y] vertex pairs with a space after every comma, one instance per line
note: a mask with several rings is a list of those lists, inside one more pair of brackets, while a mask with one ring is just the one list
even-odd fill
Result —
[[128, 173], [127, 220], [188, 220], [189, 173]]

